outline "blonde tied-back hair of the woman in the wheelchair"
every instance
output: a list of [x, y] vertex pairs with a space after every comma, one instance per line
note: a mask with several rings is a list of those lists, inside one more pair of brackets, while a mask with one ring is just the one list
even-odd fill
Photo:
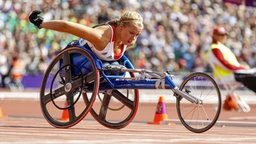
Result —
[[136, 11], [125, 11], [120, 17], [120, 19], [114, 19], [107, 22], [107, 24], [115, 25], [115, 26], [118, 26], [121, 23], [123, 24], [133, 23], [136, 26], [143, 28], [143, 18]]

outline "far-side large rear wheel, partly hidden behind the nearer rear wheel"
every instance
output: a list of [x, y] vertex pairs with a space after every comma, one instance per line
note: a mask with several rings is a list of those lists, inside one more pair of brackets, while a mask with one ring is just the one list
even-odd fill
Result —
[[[128, 77], [135, 77], [132, 72], [127, 72], [126, 75]], [[95, 102], [91, 109], [91, 114], [103, 126], [111, 129], [120, 129], [127, 126], [133, 120], [138, 104], [138, 89], [100, 91], [97, 102]]]

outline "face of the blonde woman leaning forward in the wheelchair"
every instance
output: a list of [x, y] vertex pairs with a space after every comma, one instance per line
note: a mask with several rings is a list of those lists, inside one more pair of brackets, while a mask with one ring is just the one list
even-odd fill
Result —
[[123, 44], [132, 46], [135, 44], [138, 36], [142, 32], [142, 27], [139, 27], [135, 24], [129, 23], [126, 25], [121, 25], [121, 40]]

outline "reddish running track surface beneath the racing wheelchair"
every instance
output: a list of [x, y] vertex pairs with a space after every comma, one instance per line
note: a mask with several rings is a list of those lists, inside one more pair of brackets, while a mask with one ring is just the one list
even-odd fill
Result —
[[250, 105], [252, 110], [249, 113], [222, 111], [218, 123], [212, 129], [197, 134], [179, 123], [175, 103], [166, 103], [169, 119], [175, 124], [147, 124], [154, 118], [156, 103], [140, 103], [133, 122], [123, 129], [108, 129], [93, 120], [90, 114], [72, 128], [58, 129], [43, 118], [38, 99], [4, 98], [0, 100], [0, 106], [8, 118], [0, 118], [0, 143], [256, 143], [255, 104]]

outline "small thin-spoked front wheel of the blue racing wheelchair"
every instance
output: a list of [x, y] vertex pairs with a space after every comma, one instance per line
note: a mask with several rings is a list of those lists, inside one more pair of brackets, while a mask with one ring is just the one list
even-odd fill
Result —
[[206, 73], [195, 72], [185, 78], [180, 90], [198, 99], [197, 103], [191, 103], [177, 96], [176, 107], [181, 123], [195, 133], [209, 130], [221, 111], [221, 94], [214, 79]]

